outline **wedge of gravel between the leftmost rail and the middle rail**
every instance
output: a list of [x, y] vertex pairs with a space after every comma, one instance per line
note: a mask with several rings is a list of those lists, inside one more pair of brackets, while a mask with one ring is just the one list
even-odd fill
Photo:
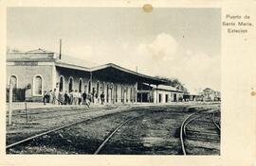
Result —
[[[64, 128], [23, 146], [9, 149], [11, 154], [93, 154], [115, 127], [126, 119], [149, 111], [145, 108], [112, 114]], [[54, 139], [53, 139], [54, 138]], [[38, 147], [43, 147], [40, 151]]]

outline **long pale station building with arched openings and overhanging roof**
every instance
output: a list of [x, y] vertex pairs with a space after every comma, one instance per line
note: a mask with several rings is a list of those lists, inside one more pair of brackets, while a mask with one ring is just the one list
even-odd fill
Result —
[[[86, 91], [105, 103], [168, 103], [182, 91], [161, 79], [108, 63], [97, 65], [44, 49], [7, 54], [7, 85], [12, 82], [13, 101], [42, 101], [44, 91]], [[8, 92], [7, 92], [8, 93]]]

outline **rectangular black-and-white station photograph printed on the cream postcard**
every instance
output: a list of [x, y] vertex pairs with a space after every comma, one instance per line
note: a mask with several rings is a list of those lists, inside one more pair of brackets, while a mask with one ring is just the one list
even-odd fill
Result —
[[221, 8], [7, 8], [6, 154], [221, 155]]

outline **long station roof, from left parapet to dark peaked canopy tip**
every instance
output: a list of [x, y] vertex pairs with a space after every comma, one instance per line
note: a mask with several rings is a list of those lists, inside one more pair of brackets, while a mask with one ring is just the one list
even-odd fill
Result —
[[166, 84], [165, 81], [150, 75], [139, 74], [135, 71], [120, 67], [114, 63], [98, 65], [97, 63], [74, 58], [67, 55], [62, 55], [52, 51], [39, 48], [27, 52], [12, 52], [8, 53], [7, 61], [52, 61], [56, 66], [90, 72], [93, 75], [99, 75], [111, 80], [123, 80], [127, 82], [145, 82], [148, 84]]

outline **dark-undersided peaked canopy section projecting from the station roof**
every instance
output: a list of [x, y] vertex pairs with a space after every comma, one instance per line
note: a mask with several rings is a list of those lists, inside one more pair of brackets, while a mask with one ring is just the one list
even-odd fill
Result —
[[166, 84], [164, 80], [158, 79], [154, 76], [139, 74], [135, 71], [125, 69], [114, 63], [108, 63], [101, 66], [91, 68], [92, 75], [103, 77], [113, 81], [124, 82], [143, 82], [148, 84]]

